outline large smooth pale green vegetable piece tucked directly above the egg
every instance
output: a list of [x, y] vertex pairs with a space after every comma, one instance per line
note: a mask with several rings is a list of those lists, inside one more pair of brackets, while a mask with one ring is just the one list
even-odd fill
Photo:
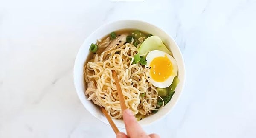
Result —
[[140, 45], [139, 53], [145, 54], [148, 51], [152, 50], [160, 50], [163, 52], [166, 52], [169, 55], [172, 55], [172, 52], [166, 48], [166, 46], [163, 44], [162, 40], [158, 36], [151, 36], [145, 39], [145, 41]]

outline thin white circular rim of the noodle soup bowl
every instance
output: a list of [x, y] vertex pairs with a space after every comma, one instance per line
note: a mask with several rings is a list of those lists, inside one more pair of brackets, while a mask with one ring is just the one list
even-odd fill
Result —
[[[168, 110], [165, 114], [163, 114], [160, 118], [154, 119], [154, 121], [149, 122], [149, 123], [147, 123], [147, 124], [140, 124], [140, 125], [142, 125], [142, 126], [147, 126], [147, 125], [149, 125], [149, 124], [151, 124], [151, 123], [153, 123], [153, 122], [156, 122], [156, 121], [159, 121], [159, 120], [162, 119], [162, 118], [165, 118], [166, 115], [168, 115], [168, 114], [171, 112], [171, 110], [173, 110], [173, 108], [176, 106], [177, 102], [180, 100], [180, 96], [181, 96], [182, 93], [183, 93], [183, 89], [184, 89], [185, 81], [186, 81], [185, 63], [184, 63], [183, 55], [182, 55], [182, 53], [181, 53], [181, 51], [180, 51], [179, 46], [177, 45], [177, 43], [175, 42], [175, 40], [173, 39], [172, 36], [170, 36], [166, 31], [164, 31], [162, 28], [158, 27], [157, 25], [154, 25], [154, 24], [152, 24], [152, 23], [145, 22], [145, 21], [143, 21], [143, 20], [115, 20], [115, 21], [111, 21], [111, 22], [104, 23], [104, 24], [100, 25], [95, 31], [93, 31], [92, 33], [90, 33], [90, 35], [88, 35], [88, 36], [84, 39], [84, 42], [82, 43], [82, 45], [81, 45], [80, 48], [79, 48], [79, 51], [78, 51], [77, 54], [76, 54], [76, 59], [75, 59], [75, 62], [74, 62], [74, 67], [73, 67], [73, 81], [74, 81], [74, 86], [75, 86], [75, 89], [76, 89], [77, 96], [79, 97], [79, 100], [81, 101], [81, 103], [83, 104], [83, 106], [85, 107], [85, 109], [86, 109], [91, 115], [93, 115], [95, 118], [97, 118], [98, 120], [100, 120], [101, 122], [110, 125], [110, 124], [108, 123], [108, 121], [107, 121], [107, 122], [106, 122], [106, 121], [103, 121], [102, 119], [100, 119], [99, 117], [97, 117], [94, 113], [92, 113], [92, 111], [88, 109], [89, 107], [87, 107], [87, 106], [84, 104], [84, 102], [82, 101], [84, 97], [79, 96], [79, 93], [78, 93], [78, 91], [79, 91], [78, 89], [79, 89], [79, 88], [78, 88], [78, 86], [77, 86], [77, 84], [76, 84], [76, 75], [75, 75], [75, 74], [76, 74], [76, 70], [77, 70], [76, 68], [78, 68], [78, 67], [76, 66], [76, 64], [78, 64], [77, 62], [79, 62], [79, 61], [78, 61], [78, 60], [79, 60], [79, 59], [78, 59], [78, 56], [79, 56], [79, 53], [81, 53], [82, 46], [86, 44], [88, 38], [92, 37], [94, 34], [96, 34], [96, 32], [100, 31], [102, 28], [106, 28], [106, 27], [108, 27], [108, 26], [111, 25], [111, 24], [122, 23], [122, 22], [137, 22], [137, 23], [143, 23], [143, 24], [152, 25], [152, 26], [154, 26], [155, 28], [159, 29], [160, 31], [162, 31], [163, 33], [165, 33], [165, 35], [166, 35], [167, 37], [169, 37], [170, 39], [172, 39], [173, 43], [174, 43], [175, 46], [177, 47], [177, 50], [178, 50], [179, 55], [180, 55], [180, 58], [182, 59], [182, 60], [180, 61], [180, 65], [182, 65], [181, 68], [183, 69], [183, 81], [182, 81], [182, 86], [181, 86], [181, 88], [180, 88], [180, 93], [179, 93], [179, 95], [177, 96], [176, 101], [174, 102], [174, 104], [172, 105], [172, 107], [170, 107], [169, 110]], [[126, 29], [126, 28], [123, 28], [123, 29]], [[104, 36], [102, 36], [102, 37], [104, 37]], [[171, 51], [172, 51], [172, 50], [171, 50]], [[175, 60], [176, 60], [176, 59], [175, 59]], [[84, 62], [85, 62], [85, 61], [84, 61]], [[96, 106], [96, 105], [95, 105], [95, 106]], [[113, 120], [115, 120], [115, 119], [113, 119]], [[120, 127], [120, 126], [117, 126], [117, 127], [119, 127], [119, 128], [124, 128], [124, 127]]]

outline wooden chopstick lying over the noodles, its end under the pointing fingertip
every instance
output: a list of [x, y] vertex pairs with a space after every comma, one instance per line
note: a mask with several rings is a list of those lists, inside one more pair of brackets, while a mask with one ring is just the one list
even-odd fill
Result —
[[121, 104], [121, 110], [122, 110], [122, 113], [124, 112], [125, 109], [127, 109], [126, 105], [125, 105], [125, 99], [124, 99], [124, 96], [122, 94], [122, 90], [121, 90], [121, 87], [120, 87], [120, 84], [119, 84], [119, 79], [116, 75], [116, 71], [115, 70], [112, 70], [112, 73], [113, 73], [113, 78], [116, 82], [116, 89], [117, 89], [117, 93], [119, 95], [119, 100], [120, 100], [120, 104]]

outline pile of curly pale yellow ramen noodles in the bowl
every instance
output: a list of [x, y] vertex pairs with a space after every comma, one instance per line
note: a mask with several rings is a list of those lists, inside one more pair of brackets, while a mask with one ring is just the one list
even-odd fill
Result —
[[[99, 42], [106, 47], [110, 43], [109, 37]], [[115, 81], [111, 70], [116, 70], [119, 83], [128, 107], [134, 115], [150, 115], [153, 110], [159, 110], [157, 104], [158, 93], [148, 80], [148, 68], [140, 64], [132, 64], [134, 55], [138, 48], [131, 43], [119, 45], [103, 58], [103, 53], [95, 54], [86, 65], [84, 65], [84, 80], [88, 100], [94, 104], [104, 107], [115, 119], [122, 118], [120, 101]]]

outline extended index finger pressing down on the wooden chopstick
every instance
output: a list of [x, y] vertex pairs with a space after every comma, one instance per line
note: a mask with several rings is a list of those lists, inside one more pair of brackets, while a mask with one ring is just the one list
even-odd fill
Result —
[[147, 134], [142, 129], [140, 124], [136, 121], [136, 118], [131, 113], [131, 110], [125, 109], [123, 115], [123, 120], [125, 122], [125, 129], [127, 132], [127, 135], [130, 138], [143, 138]]

